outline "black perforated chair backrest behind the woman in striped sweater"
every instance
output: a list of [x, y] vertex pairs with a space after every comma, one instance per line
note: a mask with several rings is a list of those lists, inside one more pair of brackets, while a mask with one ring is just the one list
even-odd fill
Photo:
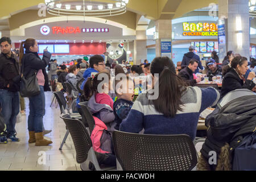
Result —
[[113, 132], [114, 150], [124, 171], [188, 171], [197, 164], [188, 135]]

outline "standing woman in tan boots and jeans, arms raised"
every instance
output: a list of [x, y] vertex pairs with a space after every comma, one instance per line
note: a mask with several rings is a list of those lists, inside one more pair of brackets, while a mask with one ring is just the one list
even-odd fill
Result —
[[[24, 53], [24, 49], [26, 52]], [[23, 76], [26, 78], [36, 74], [40, 94], [28, 97], [30, 101], [30, 114], [28, 115], [28, 131], [30, 139], [28, 143], [35, 143], [35, 146], [47, 146], [52, 141], [43, 137], [43, 116], [46, 114], [46, 98], [44, 90], [48, 91], [48, 79], [46, 67], [51, 60], [51, 53], [44, 49], [43, 59], [38, 55], [38, 43], [35, 39], [27, 39], [20, 44], [19, 60], [23, 66]]]

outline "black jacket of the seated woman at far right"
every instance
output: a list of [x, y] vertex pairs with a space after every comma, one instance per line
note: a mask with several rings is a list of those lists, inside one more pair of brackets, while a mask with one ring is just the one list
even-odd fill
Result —
[[251, 80], [246, 80], [243, 83], [243, 80], [238, 76], [237, 72], [230, 68], [229, 72], [226, 73], [222, 80], [222, 89], [221, 97], [224, 97], [227, 93], [236, 90], [236, 89], [253, 89], [255, 86], [254, 82]]

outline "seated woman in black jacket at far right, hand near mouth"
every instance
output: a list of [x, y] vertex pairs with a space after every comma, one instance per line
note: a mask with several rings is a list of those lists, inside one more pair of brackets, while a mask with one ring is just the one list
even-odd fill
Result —
[[248, 62], [246, 57], [236, 56], [230, 65], [226, 75], [222, 80], [221, 97], [236, 89], [255, 90], [255, 84], [252, 81], [255, 77], [254, 72], [250, 72], [247, 79], [245, 75], [248, 69]]

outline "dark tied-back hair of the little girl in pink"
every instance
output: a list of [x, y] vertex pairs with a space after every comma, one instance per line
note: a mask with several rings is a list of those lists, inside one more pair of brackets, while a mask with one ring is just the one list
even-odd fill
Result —
[[109, 78], [108, 81], [110, 80], [110, 74], [108, 72], [100, 72], [100, 73], [97, 73], [93, 78], [89, 77], [84, 85], [84, 99], [85, 100], [89, 100], [90, 97], [92, 97], [94, 93], [97, 93], [98, 85], [102, 82], [102, 80], [98, 80], [98, 76], [102, 73], [104, 73], [108, 76], [108, 78]]

